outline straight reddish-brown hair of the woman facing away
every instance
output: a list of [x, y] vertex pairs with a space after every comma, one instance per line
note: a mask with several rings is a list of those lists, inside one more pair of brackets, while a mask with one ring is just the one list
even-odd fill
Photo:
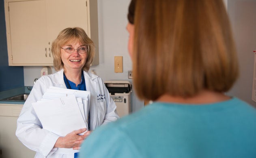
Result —
[[222, 0], [132, 0], [129, 11], [135, 11], [128, 20], [134, 21], [133, 82], [140, 99], [223, 93], [237, 80]]

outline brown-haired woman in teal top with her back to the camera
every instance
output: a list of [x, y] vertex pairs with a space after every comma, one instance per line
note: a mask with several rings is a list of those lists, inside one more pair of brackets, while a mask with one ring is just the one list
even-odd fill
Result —
[[238, 63], [222, 0], [132, 0], [128, 19], [133, 86], [153, 103], [94, 131], [81, 158], [256, 157], [256, 109], [225, 95]]

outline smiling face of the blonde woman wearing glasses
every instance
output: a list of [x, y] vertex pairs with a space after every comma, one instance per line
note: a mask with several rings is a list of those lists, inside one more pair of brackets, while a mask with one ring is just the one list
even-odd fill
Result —
[[[69, 41], [64, 46], [61, 46], [62, 48], [68, 48], [73, 47], [75, 49], [84, 46], [81, 42], [78, 40], [75, 41]], [[80, 54], [75, 50], [73, 53], [67, 53], [64, 49], [60, 50], [61, 60], [64, 64], [64, 70], [65, 71], [76, 71], [82, 70], [82, 67], [86, 63], [87, 59], [87, 53]]]

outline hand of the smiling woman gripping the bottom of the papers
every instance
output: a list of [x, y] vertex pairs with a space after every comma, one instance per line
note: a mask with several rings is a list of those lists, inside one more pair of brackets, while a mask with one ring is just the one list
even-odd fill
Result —
[[84, 133], [84, 135], [78, 135], [80, 133], [83, 133], [84, 131], [86, 131], [86, 129], [79, 129], [79, 130], [72, 131], [71, 133], [67, 134], [65, 137], [59, 137], [54, 147], [79, 149], [84, 139], [88, 135], [90, 135], [90, 131], [86, 132], [86, 133], [89, 133], [88, 135], [86, 135], [86, 133]]

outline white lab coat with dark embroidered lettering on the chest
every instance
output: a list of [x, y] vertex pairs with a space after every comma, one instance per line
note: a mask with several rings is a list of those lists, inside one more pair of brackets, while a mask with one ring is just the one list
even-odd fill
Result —
[[[85, 71], [84, 79], [86, 90], [91, 92], [90, 130], [117, 120], [119, 116], [116, 112], [116, 104], [110, 97], [102, 79]], [[17, 120], [16, 136], [26, 147], [37, 152], [35, 158], [73, 158], [77, 150], [53, 148], [59, 136], [42, 129], [42, 124], [32, 107], [32, 103], [41, 100], [49, 86], [67, 88], [63, 79], [63, 70], [42, 76], [34, 84]], [[101, 95], [105, 95], [105, 99], [100, 98]]]

